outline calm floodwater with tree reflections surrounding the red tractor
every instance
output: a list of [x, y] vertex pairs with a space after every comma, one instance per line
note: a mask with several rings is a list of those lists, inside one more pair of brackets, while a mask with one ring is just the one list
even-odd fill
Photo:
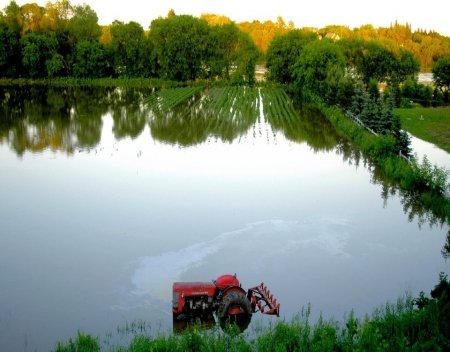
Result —
[[192, 99], [157, 117], [152, 93], [0, 88], [1, 350], [169, 332], [174, 281], [236, 273], [264, 281], [281, 319], [311, 304], [342, 320], [450, 272], [448, 224], [315, 111], [212, 128], [182, 112]]

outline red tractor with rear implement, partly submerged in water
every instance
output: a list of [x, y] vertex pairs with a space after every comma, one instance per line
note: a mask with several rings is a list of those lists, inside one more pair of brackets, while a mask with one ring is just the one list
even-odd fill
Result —
[[236, 323], [243, 331], [256, 311], [279, 316], [280, 304], [263, 283], [245, 291], [236, 275], [222, 275], [213, 282], [175, 282], [172, 311], [175, 330], [197, 319], [214, 323], [215, 313], [221, 327]]

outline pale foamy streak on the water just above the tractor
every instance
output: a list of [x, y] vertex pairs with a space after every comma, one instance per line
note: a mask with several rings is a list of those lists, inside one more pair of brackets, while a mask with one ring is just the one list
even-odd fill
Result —
[[[134, 296], [170, 301], [171, 285], [175, 281], [207, 281], [230, 269], [247, 278], [252, 276], [252, 271], [264, 271], [273, 258], [297, 255], [305, 250], [349, 258], [348, 226], [343, 218], [250, 223], [210, 241], [139, 258], [131, 275], [130, 292]], [[199, 273], [210, 273], [212, 277], [202, 278]]]

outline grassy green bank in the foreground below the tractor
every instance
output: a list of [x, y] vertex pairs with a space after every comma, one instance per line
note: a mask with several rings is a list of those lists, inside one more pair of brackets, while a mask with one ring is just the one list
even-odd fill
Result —
[[[320, 318], [312, 324], [309, 309], [304, 309], [291, 321], [262, 329], [253, 338], [246, 338], [233, 327], [226, 333], [193, 327], [181, 335], [140, 335], [129, 346], [116, 346], [111, 351], [448, 351], [450, 283], [443, 274], [431, 297], [406, 296], [363, 319], [350, 313], [342, 323]], [[98, 338], [83, 333], [56, 347], [57, 352], [100, 349]]]

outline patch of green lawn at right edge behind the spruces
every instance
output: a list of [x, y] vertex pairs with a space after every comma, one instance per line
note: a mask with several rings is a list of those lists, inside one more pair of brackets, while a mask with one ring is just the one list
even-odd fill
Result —
[[408, 132], [450, 153], [450, 107], [395, 109], [395, 113]]

